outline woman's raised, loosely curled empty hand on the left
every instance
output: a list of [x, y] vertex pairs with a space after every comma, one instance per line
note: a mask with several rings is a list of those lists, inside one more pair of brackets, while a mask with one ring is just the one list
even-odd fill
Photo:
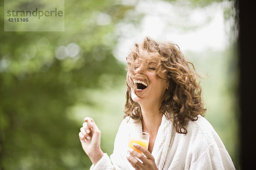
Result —
[[79, 139], [84, 152], [89, 156], [93, 164], [96, 164], [103, 156], [100, 148], [101, 132], [93, 119], [84, 118], [83, 127], [80, 128]]

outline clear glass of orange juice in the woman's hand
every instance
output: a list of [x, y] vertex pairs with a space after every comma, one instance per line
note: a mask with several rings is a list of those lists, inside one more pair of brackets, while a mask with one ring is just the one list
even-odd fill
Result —
[[136, 150], [139, 153], [140, 150], [137, 150], [132, 144], [136, 143], [136, 144], [140, 144], [141, 146], [145, 147], [148, 150], [148, 142], [149, 142], [149, 133], [145, 133], [145, 132], [131, 132], [129, 133], [129, 141], [128, 141], [128, 147]]

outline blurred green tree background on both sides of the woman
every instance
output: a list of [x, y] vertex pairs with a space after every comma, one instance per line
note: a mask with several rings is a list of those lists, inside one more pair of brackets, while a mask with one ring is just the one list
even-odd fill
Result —
[[[102, 150], [112, 153], [126, 88], [125, 63], [113, 55], [122, 36], [116, 27], [137, 26], [143, 18], [126, 17], [137, 3], [123, 2], [66, 0], [64, 32], [5, 32], [0, 25], [0, 170], [89, 169], [78, 137], [86, 116], [102, 131]], [[190, 0], [190, 5], [219, 2]], [[111, 22], [100, 24], [102, 14]], [[209, 75], [203, 82], [206, 118], [239, 169], [236, 55], [236, 41], [222, 51], [186, 52], [198, 72]]]

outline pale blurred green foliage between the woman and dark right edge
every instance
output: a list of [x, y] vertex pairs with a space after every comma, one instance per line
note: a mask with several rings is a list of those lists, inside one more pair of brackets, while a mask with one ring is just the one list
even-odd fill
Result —
[[[237, 44], [224, 51], [207, 50], [202, 53], [187, 52], [203, 77], [201, 86], [207, 113], [205, 118], [212, 124], [237, 170], [239, 164], [239, 105]], [[209, 64], [210, 63], [210, 64]]]

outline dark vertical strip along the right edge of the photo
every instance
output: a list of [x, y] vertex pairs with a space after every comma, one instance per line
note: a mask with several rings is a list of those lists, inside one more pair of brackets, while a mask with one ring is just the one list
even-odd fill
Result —
[[256, 1], [238, 0], [240, 163], [256, 170]]

